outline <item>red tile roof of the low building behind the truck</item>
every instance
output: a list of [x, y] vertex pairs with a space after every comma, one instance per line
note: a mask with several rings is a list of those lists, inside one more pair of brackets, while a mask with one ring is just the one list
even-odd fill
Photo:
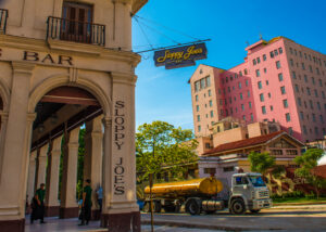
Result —
[[224, 144], [221, 144], [221, 145], [205, 152], [203, 155], [213, 155], [213, 154], [225, 152], [228, 150], [243, 149], [247, 146], [263, 144], [263, 143], [266, 143], [267, 141], [274, 139], [275, 137], [278, 137], [279, 134], [287, 134], [287, 133], [285, 131], [277, 131], [277, 132], [273, 132], [273, 133], [268, 133], [268, 134], [264, 134], [264, 136], [260, 136], [260, 137], [249, 138], [246, 140], [239, 140], [236, 142], [224, 143]]

